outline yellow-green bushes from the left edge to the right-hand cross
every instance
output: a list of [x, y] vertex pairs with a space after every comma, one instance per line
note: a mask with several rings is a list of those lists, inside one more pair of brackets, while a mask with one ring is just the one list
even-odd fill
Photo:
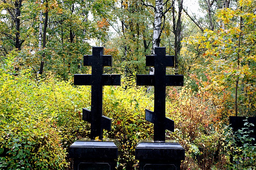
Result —
[[[91, 105], [90, 86], [73, 86], [72, 79], [61, 81], [50, 73], [37, 81], [29, 69], [16, 73], [12, 59], [0, 72], [0, 169], [64, 169], [68, 146], [90, 137], [90, 125], [82, 121], [82, 108]], [[104, 137], [122, 144], [118, 169], [135, 168], [136, 144], [153, 137], [153, 124], [144, 119], [152, 99], [134, 80], [104, 87], [104, 115], [113, 119]]]

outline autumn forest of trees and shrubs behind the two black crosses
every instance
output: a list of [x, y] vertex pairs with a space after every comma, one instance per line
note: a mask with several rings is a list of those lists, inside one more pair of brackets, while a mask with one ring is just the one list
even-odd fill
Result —
[[[145, 55], [159, 46], [175, 56], [167, 74], [184, 75], [183, 87], [166, 90], [166, 116], [175, 122], [167, 139], [186, 151], [181, 169], [233, 166], [229, 116], [256, 115], [256, 1], [199, 0], [201, 15], [183, 0], [0, 2], [0, 169], [72, 169], [67, 149], [90, 135], [81, 111], [91, 98], [73, 75], [90, 74], [83, 55], [92, 54], [92, 42], [113, 57], [104, 72], [122, 75], [103, 99], [113, 118], [104, 137], [122, 144], [118, 169], [136, 169], [136, 144], [153, 138], [144, 117], [154, 90], [136, 86], [135, 75], [148, 74]], [[237, 160], [255, 164], [249, 149]]]

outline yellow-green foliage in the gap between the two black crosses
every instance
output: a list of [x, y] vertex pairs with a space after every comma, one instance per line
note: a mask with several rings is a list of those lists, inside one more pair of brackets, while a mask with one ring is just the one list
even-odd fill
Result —
[[153, 138], [153, 124], [144, 119], [145, 108], [153, 109], [153, 95], [129, 79], [123, 79], [120, 87], [108, 86], [104, 90], [104, 115], [113, 118], [112, 131], [104, 136], [122, 144], [118, 169], [135, 169], [136, 144]]

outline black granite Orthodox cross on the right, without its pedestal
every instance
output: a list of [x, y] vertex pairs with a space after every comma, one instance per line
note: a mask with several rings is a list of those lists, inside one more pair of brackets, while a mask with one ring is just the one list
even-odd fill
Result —
[[166, 75], [174, 66], [174, 56], [165, 55], [165, 47], [156, 47], [155, 55], [146, 55], [146, 66], [154, 66], [154, 75], [136, 75], [137, 85], [155, 86], [154, 112], [146, 109], [146, 120], [154, 123], [154, 141], [165, 141], [165, 129], [174, 132], [174, 121], [165, 117], [166, 86], [183, 86], [183, 75]]

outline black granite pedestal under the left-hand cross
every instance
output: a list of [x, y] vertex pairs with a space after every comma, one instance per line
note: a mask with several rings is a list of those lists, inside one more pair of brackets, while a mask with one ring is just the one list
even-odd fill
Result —
[[69, 147], [74, 170], [115, 170], [121, 144], [117, 140], [83, 139]]

